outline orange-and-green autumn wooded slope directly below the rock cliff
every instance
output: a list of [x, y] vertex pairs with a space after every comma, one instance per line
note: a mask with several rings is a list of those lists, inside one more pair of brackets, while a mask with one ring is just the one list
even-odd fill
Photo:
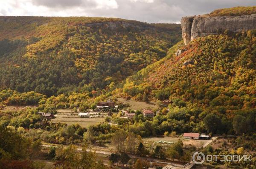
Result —
[[[221, 112], [255, 108], [256, 31], [227, 34], [173, 46], [166, 58], [126, 79], [124, 96], [180, 99], [212, 110], [222, 106]], [[176, 56], [179, 48], [183, 53]]]

